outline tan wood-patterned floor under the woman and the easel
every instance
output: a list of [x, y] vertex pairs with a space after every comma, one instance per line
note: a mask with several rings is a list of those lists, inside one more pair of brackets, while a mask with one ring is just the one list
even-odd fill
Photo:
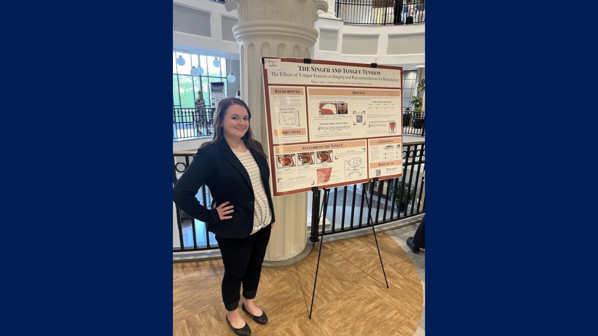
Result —
[[[318, 245], [304, 261], [264, 268], [258, 306], [270, 322], [248, 321], [254, 335], [424, 335], [425, 253], [405, 239], [417, 225], [377, 235], [386, 288], [373, 236], [325, 242], [309, 319]], [[232, 335], [220, 297], [220, 260], [173, 264], [173, 334]]]

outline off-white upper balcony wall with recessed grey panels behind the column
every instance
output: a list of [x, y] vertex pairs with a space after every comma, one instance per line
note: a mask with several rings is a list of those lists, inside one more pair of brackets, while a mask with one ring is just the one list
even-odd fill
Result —
[[[175, 49], [239, 59], [239, 45], [230, 41], [231, 19], [238, 17], [237, 11], [228, 13], [224, 4], [210, 0], [176, 0], [173, 4], [210, 14], [210, 36], [173, 30]], [[224, 33], [223, 27], [226, 30]], [[312, 55], [301, 57], [356, 63], [373, 63], [377, 59], [376, 63], [403, 66], [405, 70], [425, 65], [425, 23], [397, 26], [344, 25], [343, 20], [320, 17], [315, 28], [325, 31], [316, 41]]]

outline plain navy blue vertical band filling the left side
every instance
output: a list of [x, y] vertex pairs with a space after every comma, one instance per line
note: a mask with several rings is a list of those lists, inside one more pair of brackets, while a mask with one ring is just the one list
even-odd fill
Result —
[[172, 4], [9, 5], [4, 333], [172, 334]]

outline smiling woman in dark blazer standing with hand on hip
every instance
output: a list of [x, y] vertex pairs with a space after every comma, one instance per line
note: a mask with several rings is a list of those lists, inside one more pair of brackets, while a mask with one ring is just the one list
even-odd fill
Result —
[[[266, 255], [274, 208], [270, 196], [266, 154], [249, 127], [251, 112], [243, 100], [222, 99], [214, 114], [214, 136], [203, 143], [174, 187], [174, 201], [216, 236], [224, 263], [222, 301], [228, 325], [237, 335], [250, 335], [242, 310], [266, 324], [266, 313], [255, 305], [261, 265]], [[212, 209], [199, 203], [202, 185], [210, 189]], [[217, 205], [217, 206], [215, 206]]]

